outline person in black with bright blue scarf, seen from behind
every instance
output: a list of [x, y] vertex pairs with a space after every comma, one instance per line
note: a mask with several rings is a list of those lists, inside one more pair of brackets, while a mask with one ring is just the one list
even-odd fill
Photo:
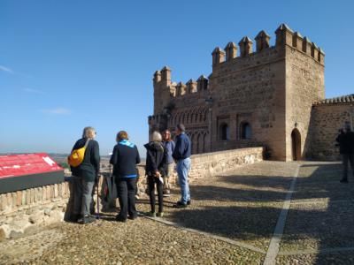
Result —
[[[119, 222], [137, 217], [135, 208], [136, 164], [140, 163], [139, 151], [128, 139], [127, 132], [117, 134], [117, 145], [113, 148], [110, 163], [113, 165], [113, 177], [117, 184], [120, 212]], [[129, 216], [128, 216], [129, 215]]]

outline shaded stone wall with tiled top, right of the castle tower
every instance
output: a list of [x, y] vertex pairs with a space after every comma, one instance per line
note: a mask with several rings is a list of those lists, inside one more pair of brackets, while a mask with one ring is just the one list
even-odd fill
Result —
[[[351, 113], [351, 114], [350, 114]], [[306, 153], [314, 160], [339, 160], [335, 146], [338, 130], [346, 121], [354, 123], [354, 102], [317, 104], [312, 108], [310, 126], [311, 143]]]

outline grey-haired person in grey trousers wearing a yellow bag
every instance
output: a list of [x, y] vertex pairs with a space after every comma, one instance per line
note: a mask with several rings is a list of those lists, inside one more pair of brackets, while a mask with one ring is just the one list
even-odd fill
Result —
[[73, 150], [86, 145], [82, 163], [77, 167], [71, 167], [73, 174], [73, 221], [79, 223], [91, 223], [96, 220], [90, 216], [93, 187], [98, 180], [100, 170], [99, 146], [98, 142], [94, 140], [95, 137], [95, 128], [85, 127], [82, 138], [73, 145]]

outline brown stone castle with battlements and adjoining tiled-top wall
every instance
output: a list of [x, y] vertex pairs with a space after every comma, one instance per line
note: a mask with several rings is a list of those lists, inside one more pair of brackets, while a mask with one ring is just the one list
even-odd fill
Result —
[[212, 51], [212, 73], [183, 82], [165, 66], [154, 73], [150, 133], [186, 125], [192, 153], [264, 147], [268, 158], [334, 160], [335, 137], [353, 122], [354, 95], [325, 99], [325, 53], [281, 24], [253, 42], [245, 36]]

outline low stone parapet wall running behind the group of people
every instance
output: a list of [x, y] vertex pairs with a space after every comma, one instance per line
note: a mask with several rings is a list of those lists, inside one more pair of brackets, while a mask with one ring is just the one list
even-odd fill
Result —
[[[263, 148], [241, 148], [192, 155], [189, 181], [212, 177], [262, 160]], [[140, 189], [143, 193], [146, 184], [144, 166], [139, 165], [138, 169], [141, 176]], [[176, 177], [174, 172], [172, 184], [176, 183]], [[69, 197], [70, 182], [1, 194], [0, 240], [17, 238], [27, 231], [37, 230], [42, 225], [63, 221]], [[94, 199], [96, 200], [96, 196]], [[103, 207], [102, 203], [100, 207]]]

